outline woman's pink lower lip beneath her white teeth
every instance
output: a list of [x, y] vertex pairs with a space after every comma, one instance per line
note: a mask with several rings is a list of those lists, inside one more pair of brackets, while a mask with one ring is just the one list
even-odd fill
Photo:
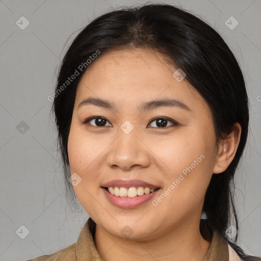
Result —
[[160, 189], [153, 191], [149, 194], [144, 194], [142, 196], [136, 196], [136, 197], [120, 197], [120, 196], [114, 196], [110, 192], [108, 192], [105, 188], [102, 188], [103, 192], [105, 193], [107, 199], [113, 203], [114, 205], [121, 207], [121, 208], [135, 208], [139, 207], [145, 202], [149, 201], [152, 197], [154, 197]]

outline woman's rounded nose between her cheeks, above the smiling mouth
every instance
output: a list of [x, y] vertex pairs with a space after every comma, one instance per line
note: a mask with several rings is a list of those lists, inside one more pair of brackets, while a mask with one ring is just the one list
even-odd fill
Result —
[[125, 171], [145, 168], [150, 164], [149, 148], [135, 131], [125, 134], [121, 129], [118, 138], [108, 148], [107, 165]]

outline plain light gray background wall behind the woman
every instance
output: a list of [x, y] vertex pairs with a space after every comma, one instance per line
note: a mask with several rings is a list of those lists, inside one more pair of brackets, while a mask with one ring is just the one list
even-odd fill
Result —
[[[1, 260], [30, 259], [76, 242], [88, 215], [81, 206], [74, 213], [66, 201], [47, 97], [54, 92], [68, 37], [98, 15], [137, 3], [145, 1], [0, 1]], [[251, 132], [236, 178], [238, 244], [246, 253], [261, 256], [261, 2], [158, 3], [181, 6], [201, 17], [222, 35], [240, 62], [250, 99]], [[30, 21], [24, 30], [16, 25], [21, 16]], [[225, 24], [230, 16], [239, 21], [233, 30]], [[21, 225], [30, 231], [25, 239], [16, 233]]]

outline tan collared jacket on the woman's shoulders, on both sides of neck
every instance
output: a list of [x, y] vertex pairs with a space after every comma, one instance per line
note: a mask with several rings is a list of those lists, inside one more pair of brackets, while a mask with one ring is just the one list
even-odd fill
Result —
[[[76, 243], [50, 255], [43, 255], [27, 261], [103, 261], [94, 244], [95, 222], [89, 218], [83, 226]], [[203, 261], [261, 261], [254, 256], [240, 257], [227, 241], [213, 233], [212, 243]]]

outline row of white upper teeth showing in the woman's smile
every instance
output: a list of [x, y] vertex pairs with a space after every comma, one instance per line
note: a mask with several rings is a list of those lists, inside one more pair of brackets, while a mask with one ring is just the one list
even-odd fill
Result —
[[142, 196], [144, 194], [149, 194], [150, 192], [152, 193], [153, 191], [155, 191], [155, 189], [143, 188], [143, 187], [138, 187], [138, 188], [131, 187], [129, 189], [123, 187], [120, 188], [109, 187], [108, 190], [112, 195], [115, 195], [117, 197], [120, 196], [120, 197], [132, 197], [132, 198], [136, 197], [137, 195]]

